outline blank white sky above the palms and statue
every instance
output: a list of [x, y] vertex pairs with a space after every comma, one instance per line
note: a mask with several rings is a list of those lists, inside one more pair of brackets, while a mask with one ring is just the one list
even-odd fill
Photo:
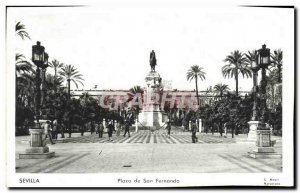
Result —
[[[21, 21], [31, 40], [8, 35], [8, 42], [29, 60], [31, 46], [41, 41], [50, 61], [57, 59], [80, 71], [85, 81], [79, 89], [144, 86], [154, 50], [156, 71], [172, 81], [173, 89], [193, 90], [195, 83], [186, 80], [186, 72], [199, 65], [206, 72], [199, 90], [218, 83], [235, 90], [235, 80], [221, 73], [225, 57], [262, 44], [286, 54], [288, 43], [293, 43], [292, 17], [288, 9], [246, 7], [20, 7], [8, 10], [8, 34], [14, 34], [15, 23]], [[252, 82], [240, 76], [239, 89], [251, 90]]]

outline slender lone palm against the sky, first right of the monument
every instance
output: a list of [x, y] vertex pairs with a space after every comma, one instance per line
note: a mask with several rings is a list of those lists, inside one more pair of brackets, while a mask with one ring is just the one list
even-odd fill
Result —
[[205, 74], [206, 73], [203, 71], [203, 68], [199, 67], [198, 65], [191, 66], [191, 68], [186, 73], [186, 78], [188, 81], [192, 81], [193, 79], [195, 79], [196, 97], [197, 97], [198, 106], [200, 106], [199, 93], [198, 93], [198, 78], [200, 78], [201, 80], [205, 80]]

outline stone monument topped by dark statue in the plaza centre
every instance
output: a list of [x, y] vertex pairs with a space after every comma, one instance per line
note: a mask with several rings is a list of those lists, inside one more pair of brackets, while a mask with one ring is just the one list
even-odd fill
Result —
[[155, 130], [163, 126], [163, 114], [160, 107], [163, 87], [162, 78], [155, 71], [156, 56], [154, 50], [150, 53], [150, 66], [151, 71], [145, 78], [143, 108], [139, 114], [139, 122], [142, 126], [151, 127], [151, 129]]

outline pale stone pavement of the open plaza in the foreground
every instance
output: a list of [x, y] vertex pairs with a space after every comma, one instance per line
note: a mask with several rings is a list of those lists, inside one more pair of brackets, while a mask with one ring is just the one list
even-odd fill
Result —
[[[156, 143], [154, 135], [157, 135]], [[190, 143], [190, 135], [164, 133], [132, 133], [132, 137], [114, 136], [113, 142], [101, 142], [97, 135], [80, 143], [49, 145], [55, 157], [38, 160], [18, 159], [18, 153], [28, 147], [25, 137], [16, 140], [16, 172], [18, 173], [257, 173], [281, 172], [282, 160], [253, 159], [247, 154], [251, 143], [239, 138], [221, 138], [215, 134], [198, 134], [200, 143]], [[150, 140], [148, 140], [150, 136]], [[93, 140], [99, 141], [93, 141]], [[173, 143], [172, 140], [175, 142]], [[131, 140], [131, 141], [130, 141]], [[281, 153], [281, 138], [276, 138], [275, 149]], [[121, 142], [120, 142], [121, 141]], [[122, 142], [123, 141], [123, 142]], [[147, 141], [149, 143], [147, 143]], [[168, 143], [169, 142], [169, 143]]]

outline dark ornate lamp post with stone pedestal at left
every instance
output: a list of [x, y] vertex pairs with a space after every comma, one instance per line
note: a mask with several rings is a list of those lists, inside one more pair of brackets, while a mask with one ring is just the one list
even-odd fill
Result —
[[[35, 125], [30, 131], [30, 147], [25, 153], [20, 153], [20, 159], [41, 159], [54, 156], [54, 152], [49, 152], [49, 147], [46, 146], [44, 129], [41, 123], [46, 120], [40, 120], [41, 116], [41, 83], [44, 75], [41, 78], [41, 69], [44, 69], [45, 62], [48, 64], [48, 55], [45, 54], [44, 46], [38, 41], [32, 46], [32, 62], [36, 65], [35, 74]], [[44, 73], [44, 72], [43, 72]], [[44, 88], [44, 87], [43, 87]]]

